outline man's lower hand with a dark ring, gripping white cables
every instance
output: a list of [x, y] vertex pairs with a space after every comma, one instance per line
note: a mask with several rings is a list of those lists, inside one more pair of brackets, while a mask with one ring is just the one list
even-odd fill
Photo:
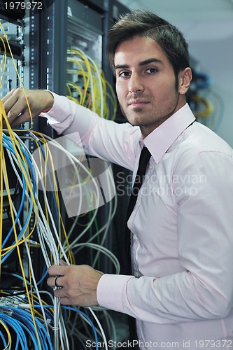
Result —
[[55, 279], [58, 287], [54, 295], [60, 298], [61, 304], [90, 307], [98, 304], [97, 285], [103, 272], [97, 271], [88, 265], [53, 265], [48, 269], [50, 277], [48, 286], [55, 288]]

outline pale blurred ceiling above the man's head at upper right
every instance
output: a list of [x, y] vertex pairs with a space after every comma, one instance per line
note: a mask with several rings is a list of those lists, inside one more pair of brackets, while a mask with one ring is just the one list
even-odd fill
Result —
[[233, 36], [233, 0], [118, 0], [130, 10], [144, 8], [176, 25], [188, 41]]

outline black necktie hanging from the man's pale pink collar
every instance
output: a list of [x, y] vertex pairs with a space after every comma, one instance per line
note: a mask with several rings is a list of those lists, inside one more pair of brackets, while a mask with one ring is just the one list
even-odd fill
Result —
[[[132, 188], [132, 193], [129, 199], [129, 206], [127, 211], [127, 221], [129, 220], [129, 216], [132, 214], [132, 211], [134, 210], [134, 206], [136, 204], [136, 199], [139, 194], [139, 190], [141, 188], [141, 185], [143, 183], [143, 176], [146, 173], [146, 166], [148, 165], [148, 161], [151, 157], [150, 151], [148, 151], [148, 148], [143, 147], [141, 150], [141, 155], [139, 158], [139, 167], [136, 172], [136, 176], [134, 179], [134, 186]], [[126, 226], [127, 226], [126, 221]], [[127, 226], [126, 228], [126, 239], [125, 239], [125, 246], [126, 246], [126, 255], [127, 255], [127, 272], [129, 275], [132, 274], [132, 264], [131, 264], [131, 241], [130, 237], [131, 233]], [[130, 341], [133, 342], [133, 340], [137, 339], [136, 335], [136, 322], [135, 318], [132, 318], [129, 316], [129, 335], [130, 335]]]

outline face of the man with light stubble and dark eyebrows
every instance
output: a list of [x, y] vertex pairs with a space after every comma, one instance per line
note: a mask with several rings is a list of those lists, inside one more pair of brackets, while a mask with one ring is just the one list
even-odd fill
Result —
[[143, 137], [185, 104], [181, 79], [177, 90], [174, 69], [152, 39], [137, 36], [120, 43], [114, 64], [120, 108]]

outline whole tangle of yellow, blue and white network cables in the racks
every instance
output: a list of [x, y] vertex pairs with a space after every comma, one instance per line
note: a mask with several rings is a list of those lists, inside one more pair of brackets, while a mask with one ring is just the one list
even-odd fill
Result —
[[[4, 35], [8, 44], [6, 34]], [[5, 43], [3, 45], [5, 48]], [[90, 79], [92, 89], [87, 84], [87, 87], [80, 91], [83, 94], [82, 104], [87, 102], [88, 94], [90, 94], [90, 102], [88, 102], [90, 107], [96, 109], [97, 113], [101, 111], [101, 116], [106, 118], [105, 113], [108, 109], [102, 97], [104, 94], [107, 95], [106, 85], [108, 83], [101, 76], [97, 65], [94, 62], [90, 63], [90, 59], [88, 62], [92, 66], [92, 78], [88, 78], [86, 74], [83, 76], [85, 76], [86, 83]], [[6, 48], [1, 60], [3, 73], [5, 66]], [[80, 70], [82, 71], [81, 68]], [[17, 71], [16, 66], [15, 71]], [[95, 78], [94, 74], [96, 74]], [[20, 80], [19, 75], [18, 78]], [[2, 81], [3, 76], [0, 83]], [[22, 85], [21, 80], [20, 84]], [[25, 99], [27, 100], [26, 94]], [[29, 107], [28, 102], [27, 105]], [[115, 106], [114, 101], [113, 105]], [[89, 214], [83, 214], [82, 216], [87, 216], [87, 224], [70, 244], [69, 240], [74, 229], [80, 225], [79, 216], [74, 218], [67, 235], [60, 209], [59, 183], [57, 183], [50, 146], [57, 148], [59, 153], [69, 158], [69, 162], [73, 165], [73, 183], [76, 183], [77, 179], [85, 182], [85, 179], [80, 179], [80, 168], [94, 183], [90, 169], [83, 167], [82, 162], [67, 152], [57, 141], [31, 131], [32, 118], [27, 129], [19, 128], [13, 131], [1, 100], [0, 113], [0, 276], [1, 282], [7, 281], [5, 286], [4, 283], [1, 283], [0, 290], [0, 344], [4, 350], [29, 349], [31, 346], [40, 350], [69, 350], [69, 346], [73, 349], [73, 344], [76, 346], [77, 341], [83, 349], [86, 349], [85, 341], [92, 339], [98, 349], [99, 337], [107, 349], [106, 335], [94, 311], [104, 314], [108, 333], [113, 334], [111, 339], [115, 339], [115, 325], [108, 311], [101, 307], [87, 308], [85, 312], [78, 307], [62, 307], [56, 297], [47, 290], [43, 290], [43, 286], [46, 288], [44, 280], [50, 265], [58, 265], [60, 258], [63, 258], [67, 264], [75, 263], [76, 256], [84, 247], [90, 251], [97, 251], [95, 255], [90, 254], [93, 257], [91, 264], [93, 267], [99, 262], [99, 254], [102, 253], [113, 262], [115, 271], [119, 273], [118, 260], [111, 251], [102, 246], [111, 219], [115, 214], [116, 200], [114, 204], [112, 201], [109, 202], [106, 223], [103, 223], [100, 228], [97, 223], [98, 206]], [[39, 150], [39, 161], [37, 162], [27, 147], [31, 141]], [[49, 167], [52, 172], [48, 171]], [[9, 181], [12, 177], [15, 179], [14, 189]], [[108, 186], [113, 186], [112, 181], [111, 177], [108, 177]], [[51, 188], [52, 191], [50, 191]], [[84, 190], [90, 200], [98, 202], [98, 191], [92, 193], [88, 188]], [[7, 227], [6, 221], [8, 222]], [[80, 242], [81, 238], [85, 241]], [[33, 261], [35, 249], [41, 253], [40, 265], [44, 265], [44, 272], [39, 280], [38, 267]], [[10, 271], [13, 260], [17, 271]], [[83, 329], [86, 335], [83, 334]]]

